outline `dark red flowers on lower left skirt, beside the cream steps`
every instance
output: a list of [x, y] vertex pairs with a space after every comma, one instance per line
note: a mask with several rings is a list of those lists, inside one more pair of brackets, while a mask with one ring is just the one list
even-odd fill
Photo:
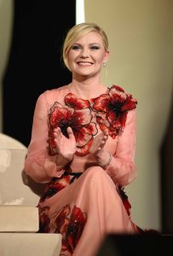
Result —
[[66, 205], [58, 212], [55, 221], [50, 223], [49, 207], [39, 207], [40, 233], [61, 233], [62, 246], [61, 253], [66, 252], [72, 255], [78, 241], [83, 233], [87, 215], [79, 207], [74, 206], [71, 210], [70, 205]]

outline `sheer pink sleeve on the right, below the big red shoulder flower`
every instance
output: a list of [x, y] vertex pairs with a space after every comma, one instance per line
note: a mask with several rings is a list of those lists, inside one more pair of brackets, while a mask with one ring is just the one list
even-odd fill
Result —
[[116, 152], [106, 170], [114, 183], [125, 186], [136, 178], [135, 154], [136, 109], [133, 109], [127, 115], [124, 132], [118, 136]]

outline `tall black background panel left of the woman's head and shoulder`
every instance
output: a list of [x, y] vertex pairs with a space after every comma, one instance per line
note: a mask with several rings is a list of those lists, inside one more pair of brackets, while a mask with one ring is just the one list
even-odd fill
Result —
[[13, 36], [3, 77], [3, 133], [27, 147], [37, 96], [71, 79], [61, 61], [61, 46], [67, 30], [75, 25], [76, 1], [13, 3]]

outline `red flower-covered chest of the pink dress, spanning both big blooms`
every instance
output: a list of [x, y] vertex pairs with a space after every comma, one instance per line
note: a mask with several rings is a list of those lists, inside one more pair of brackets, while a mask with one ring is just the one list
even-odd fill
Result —
[[55, 127], [61, 127], [66, 137], [66, 128], [72, 127], [77, 142], [75, 154], [78, 156], [89, 154], [95, 136], [101, 131], [108, 131], [107, 146], [112, 148], [118, 135], [124, 131], [128, 111], [136, 108], [136, 103], [136, 99], [118, 85], [112, 85], [107, 93], [90, 100], [67, 93], [64, 104], [55, 102], [49, 111], [50, 154], [57, 153], [53, 134]]

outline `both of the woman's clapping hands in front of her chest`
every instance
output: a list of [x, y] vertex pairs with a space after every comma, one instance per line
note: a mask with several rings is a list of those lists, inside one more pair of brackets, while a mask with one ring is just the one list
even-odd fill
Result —
[[[76, 152], [77, 143], [72, 132], [72, 128], [68, 127], [66, 129], [68, 137], [65, 137], [61, 128], [57, 127], [54, 131], [55, 136], [55, 145], [57, 152], [64, 157], [68, 162], [72, 160], [73, 155]], [[92, 146], [89, 148], [89, 153], [95, 155], [95, 159], [98, 164], [105, 165], [109, 161], [110, 154], [105, 150], [104, 146], [107, 143], [108, 131], [103, 131], [97, 135], [92, 143]]]

